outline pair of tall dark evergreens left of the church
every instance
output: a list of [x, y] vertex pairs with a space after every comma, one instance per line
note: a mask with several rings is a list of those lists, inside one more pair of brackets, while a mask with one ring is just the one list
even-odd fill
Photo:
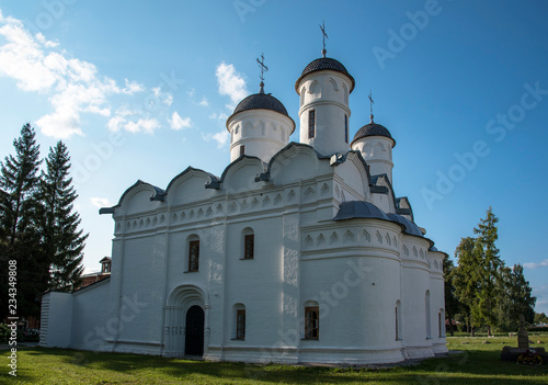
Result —
[[[0, 162], [0, 265], [8, 272], [16, 261], [18, 316], [39, 318], [41, 293], [69, 292], [81, 283], [88, 235], [79, 229], [65, 144], [58, 141], [41, 159], [35, 131], [25, 124], [13, 147]], [[0, 321], [8, 315], [9, 287], [2, 274]]]

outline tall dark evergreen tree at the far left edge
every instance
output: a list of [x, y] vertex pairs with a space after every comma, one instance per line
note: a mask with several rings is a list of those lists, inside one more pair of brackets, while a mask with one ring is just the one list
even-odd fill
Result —
[[[39, 226], [36, 222], [39, 204], [39, 146], [30, 124], [21, 128], [13, 141], [15, 155], [9, 155], [0, 165], [0, 263], [7, 271], [8, 260], [18, 265], [18, 315], [39, 316], [37, 294], [47, 286], [48, 268], [43, 258]], [[7, 274], [2, 275], [0, 314], [8, 310]]]

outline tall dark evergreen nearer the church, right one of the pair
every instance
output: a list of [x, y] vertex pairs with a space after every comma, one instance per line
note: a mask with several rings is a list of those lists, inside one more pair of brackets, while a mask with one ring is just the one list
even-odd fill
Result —
[[88, 235], [79, 229], [80, 215], [73, 212], [78, 197], [69, 177], [70, 157], [58, 141], [49, 148], [39, 197], [44, 215], [44, 252], [50, 263], [49, 288], [71, 291], [81, 283], [83, 248]]

